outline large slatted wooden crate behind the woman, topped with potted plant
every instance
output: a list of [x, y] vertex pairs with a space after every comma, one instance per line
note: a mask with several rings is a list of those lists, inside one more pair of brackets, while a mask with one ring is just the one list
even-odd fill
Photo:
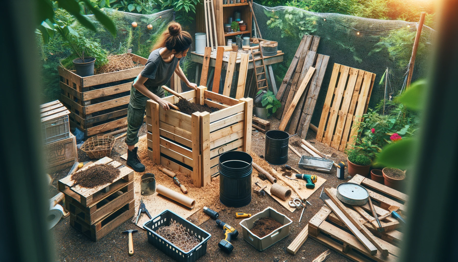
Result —
[[[137, 65], [146, 58], [128, 54]], [[59, 67], [60, 101], [70, 109], [70, 125], [93, 136], [127, 126], [127, 106], [133, 78], [144, 66], [117, 72], [80, 77], [75, 71]]]

